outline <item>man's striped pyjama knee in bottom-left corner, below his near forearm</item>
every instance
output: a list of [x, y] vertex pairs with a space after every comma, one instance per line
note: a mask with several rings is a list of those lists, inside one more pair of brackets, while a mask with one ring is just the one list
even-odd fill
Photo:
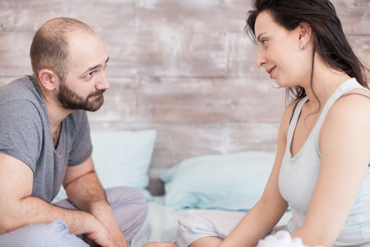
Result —
[[31, 224], [0, 235], [0, 246], [87, 247], [88, 245], [82, 239], [70, 234], [64, 222], [54, 221], [48, 224]]

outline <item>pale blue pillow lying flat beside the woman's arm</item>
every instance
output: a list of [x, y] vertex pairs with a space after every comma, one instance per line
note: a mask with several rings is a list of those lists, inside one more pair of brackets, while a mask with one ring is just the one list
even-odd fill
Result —
[[249, 210], [264, 191], [275, 155], [242, 152], [185, 159], [161, 175], [173, 209]]

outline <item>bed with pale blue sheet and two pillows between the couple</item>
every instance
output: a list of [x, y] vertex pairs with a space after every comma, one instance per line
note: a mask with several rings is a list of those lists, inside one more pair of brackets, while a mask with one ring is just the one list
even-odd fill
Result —
[[[189, 157], [158, 174], [164, 195], [147, 190], [156, 130], [92, 131], [94, 166], [102, 185], [140, 188], [148, 215], [131, 247], [177, 240], [178, 218], [187, 210], [245, 214], [257, 203], [272, 169], [274, 152], [245, 151]], [[129, 174], [130, 176], [127, 176]], [[152, 192], [152, 191], [151, 191]], [[54, 199], [65, 197], [63, 189]], [[287, 212], [280, 224], [287, 222]]]

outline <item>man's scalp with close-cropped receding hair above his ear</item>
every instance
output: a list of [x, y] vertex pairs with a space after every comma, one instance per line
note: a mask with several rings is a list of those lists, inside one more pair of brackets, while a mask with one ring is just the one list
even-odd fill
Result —
[[90, 26], [66, 17], [51, 19], [37, 30], [30, 49], [32, 71], [36, 78], [42, 68], [49, 68], [61, 81], [65, 80], [70, 65], [68, 34], [75, 31], [95, 35]]

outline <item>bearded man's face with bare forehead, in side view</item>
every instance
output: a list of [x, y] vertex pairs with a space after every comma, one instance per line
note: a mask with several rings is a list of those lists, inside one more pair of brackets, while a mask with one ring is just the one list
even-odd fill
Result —
[[106, 62], [109, 57], [97, 35], [76, 30], [68, 35], [70, 65], [65, 81], [59, 83], [56, 98], [64, 109], [97, 111], [109, 88]]

